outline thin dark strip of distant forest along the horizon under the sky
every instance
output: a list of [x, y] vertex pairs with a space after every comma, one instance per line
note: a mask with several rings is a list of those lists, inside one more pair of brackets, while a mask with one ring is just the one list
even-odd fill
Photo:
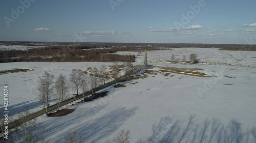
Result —
[[256, 51], [256, 45], [244, 44], [165, 44], [165, 43], [73, 43], [73, 42], [0, 42], [4, 45], [27, 45], [27, 46], [69, 46], [79, 49], [93, 49], [93, 48], [118, 48], [118, 51], [123, 50], [158, 50], [159, 48], [185, 48], [185, 47], [197, 47], [197, 48], [219, 48], [220, 50], [244, 50], [244, 51]]

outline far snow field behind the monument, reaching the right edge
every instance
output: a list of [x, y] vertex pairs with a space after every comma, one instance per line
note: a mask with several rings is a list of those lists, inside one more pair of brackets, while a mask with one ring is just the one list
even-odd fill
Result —
[[[183, 55], [189, 61], [191, 53], [197, 53], [199, 62], [214, 65], [232, 65], [243, 67], [256, 67], [256, 51], [225, 51], [217, 48], [172, 48], [174, 50], [147, 51], [147, 60], [152, 63], [168, 63], [171, 61], [172, 54], [175, 60], [182, 61]], [[143, 63], [144, 52], [138, 55], [136, 51], [120, 51], [119, 54], [134, 54], [136, 61]]]

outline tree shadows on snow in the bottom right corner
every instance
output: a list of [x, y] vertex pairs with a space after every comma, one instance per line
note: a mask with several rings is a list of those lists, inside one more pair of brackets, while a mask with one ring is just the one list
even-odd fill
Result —
[[152, 130], [153, 134], [146, 142], [249, 143], [256, 141], [256, 127], [243, 131], [241, 123], [235, 120], [231, 120], [225, 126], [217, 119], [205, 119], [203, 123], [196, 124], [195, 116], [190, 116], [186, 123], [165, 117], [158, 125], [153, 125]]

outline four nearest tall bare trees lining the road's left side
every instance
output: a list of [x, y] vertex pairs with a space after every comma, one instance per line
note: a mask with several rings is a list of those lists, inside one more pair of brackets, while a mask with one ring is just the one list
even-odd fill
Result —
[[[49, 100], [52, 96], [55, 96], [59, 103], [67, 99], [67, 92], [69, 87], [76, 92], [78, 96], [78, 91], [86, 92], [88, 89], [88, 80], [92, 84], [92, 88], [95, 88], [98, 84], [98, 77], [91, 75], [90, 78], [88, 75], [84, 74], [81, 69], [72, 70], [70, 74], [70, 84], [68, 83], [67, 77], [62, 74], [53, 82], [54, 76], [49, 72], [45, 71], [45, 76], [39, 79], [38, 91], [39, 91], [39, 100], [44, 104], [44, 108], [49, 107]], [[54, 84], [55, 83], [55, 84]], [[70, 85], [70, 86], [69, 86]], [[56, 90], [56, 94], [54, 94]]]

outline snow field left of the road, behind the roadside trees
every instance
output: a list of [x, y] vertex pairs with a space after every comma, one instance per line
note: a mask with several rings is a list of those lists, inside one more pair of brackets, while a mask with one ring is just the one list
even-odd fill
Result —
[[[25, 108], [38, 110], [42, 108], [42, 103], [38, 100], [37, 81], [39, 77], [44, 76], [45, 70], [54, 75], [54, 80], [63, 74], [69, 78], [69, 74], [73, 69], [81, 69], [86, 71], [89, 67], [100, 67], [100, 65], [111, 66], [113, 63], [93, 63], [93, 62], [81, 62], [81, 63], [43, 63], [43, 62], [18, 62], [18, 63], [1, 63], [0, 71], [14, 69], [14, 68], [27, 68], [32, 69], [28, 72], [19, 73], [7, 73], [0, 74], [0, 88], [4, 88], [5, 84], [8, 84], [9, 89], [9, 113], [13, 116]], [[122, 74], [122, 72], [120, 72]], [[69, 79], [68, 79], [69, 80]], [[108, 82], [108, 81], [106, 81]], [[88, 87], [90, 89], [90, 87]], [[69, 96], [75, 94], [71, 89], [69, 90]], [[81, 91], [79, 91], [81, 93]], [[4, 98], [0, 95], [0, 98]], [[50, 104], [56, 103], [55, 97], [52, 97]], [[0, 100], [0, 109], [3, 110], [4, 102]]]

